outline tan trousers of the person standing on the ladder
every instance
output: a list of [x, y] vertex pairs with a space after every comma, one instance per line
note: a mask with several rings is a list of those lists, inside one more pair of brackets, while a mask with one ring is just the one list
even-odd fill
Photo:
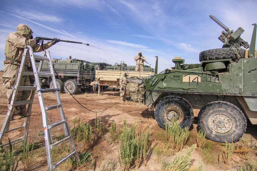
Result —
[[[8, 108], [11, 103], [12, 93], [14, 85], [16, 84], [20, 66], [13, 64], [4, 64], [4, 74], [3, 74], [3, 85], [7, 88], [7, 102]], [[24, 68], [24, 71], [28, 71], [27, 67]], [[21, 76], [20, 86], [30, 86], [29, 76]], [[31, 91], [19, 91], [17, 94], [16, 101], [26, 100], [29, 98]], [[15, 106], [13, 113], [18, 114], [26, 110], [26, 105]]]

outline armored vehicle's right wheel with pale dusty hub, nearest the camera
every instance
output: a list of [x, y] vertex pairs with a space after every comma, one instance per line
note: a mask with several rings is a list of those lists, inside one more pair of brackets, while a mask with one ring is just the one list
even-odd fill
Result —
[[246, 119], [234, 104], [215, 101], [206, 104], [198, 114], [198, 127], [206, 138], [217, 142], [236, 142], [246, 129]]

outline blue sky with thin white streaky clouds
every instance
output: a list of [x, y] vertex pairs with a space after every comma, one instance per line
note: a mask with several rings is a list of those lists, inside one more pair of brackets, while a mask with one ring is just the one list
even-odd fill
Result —
[[230, 30], [242, 27], [241, 37], [250, 44], [256, 7], [256, 0], [0, 0], [0, 70], [6, 37], [20, 23], [28, 25], [34, 37], [90, 44], [57, 43], [48, 49], [52, 58], [71, 55], [90, 62], [105, 62], [103, 58], [110, 64], [135, 65], [133, 58], [142, 51], [152, 67], [159, 56], [158, 71], [173, 67], [177, 56], [186, 63], [200, 63], [201, 51], [223, 45], [217, 39], [222, 28], [209, 15]]

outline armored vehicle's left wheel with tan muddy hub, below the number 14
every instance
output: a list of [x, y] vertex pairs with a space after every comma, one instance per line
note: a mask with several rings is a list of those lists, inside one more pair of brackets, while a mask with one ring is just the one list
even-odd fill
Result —
[[156, 105], [155, 119], [163, 129], [164, 122], [170, 124], [174, 119], [178, 120], [182, 128], [190, 127], [193, 123], [193, 109], [182, 97], [166, 96]]

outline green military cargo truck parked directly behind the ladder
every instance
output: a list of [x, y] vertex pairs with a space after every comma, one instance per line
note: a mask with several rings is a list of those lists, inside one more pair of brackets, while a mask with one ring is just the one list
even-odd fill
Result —
[[[37, 67], [38, 67], [37, 63]], [[55, 73], [56, 84], [59, 91], [65, 93], [76, 94], [79, 89], [83, 92], [92, 90], [90, 83], [95, 80], [95, 67], [90, 62], [79, 59], [52, 59], [52, 65], [57, 72]], [[48, 62], [44, 62], [42, 72], [50, 72]], [[53, 87], [51, 77], [40, 77], [41, 86]], [[34, 81], [31, 80], [31, 84]], [[64, 85], [67, 87], [67, 90]]]

